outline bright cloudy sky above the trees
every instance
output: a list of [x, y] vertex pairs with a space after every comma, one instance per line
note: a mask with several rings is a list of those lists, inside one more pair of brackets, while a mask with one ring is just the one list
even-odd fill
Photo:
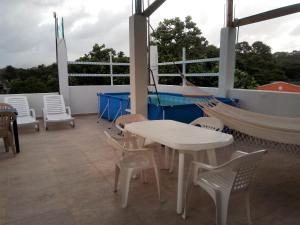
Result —
[[[0, 68], [28, 68], [55, 61], [55, 11], [64, 17], [68, 60], [88, 53], [95, 43], [128, 54], [132, 0], [0, 0]], [[147, 2], [147, 0], [145, 0]], [[150, 3], [153, 0], [150, 0]], [[299, 0], [235, 0], [235, 17], [299, 3]], [[152, 16], [155, 28], [164, 18], [190, 15], [210, 44], [219, 46], [225, 0], [167, 0]], [[276, 51], [300, 50], [300, 13], [243, 26], [239, 41], [263, 41]]]

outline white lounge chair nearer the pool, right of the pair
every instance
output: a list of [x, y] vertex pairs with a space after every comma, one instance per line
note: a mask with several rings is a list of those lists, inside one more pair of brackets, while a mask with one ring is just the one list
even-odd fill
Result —
[[45, 95], [43, 108], [44, 126], [48, 130], [48, 123], [67, 123], [75, 127], [74, 118], [71, 116], [71, 108], [65, 106], [62, 95]]

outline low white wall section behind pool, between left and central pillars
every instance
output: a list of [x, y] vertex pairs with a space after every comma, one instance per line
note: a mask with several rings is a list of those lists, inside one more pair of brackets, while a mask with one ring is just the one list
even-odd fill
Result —
[[72, 114], [97, 113], [98, 92], [129, 92], [129, 90], [129, 85], [70, 86], [70, 106]]

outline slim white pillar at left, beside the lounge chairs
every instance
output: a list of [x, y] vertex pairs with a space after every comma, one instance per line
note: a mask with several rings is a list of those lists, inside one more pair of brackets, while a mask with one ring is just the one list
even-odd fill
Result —
[[64, 96], [65, 103], [70, 104], [69, 76], [68, 76], [68, 55], [66, 42], [57, 38], [57, 67], [59, 79], [59, 93]]

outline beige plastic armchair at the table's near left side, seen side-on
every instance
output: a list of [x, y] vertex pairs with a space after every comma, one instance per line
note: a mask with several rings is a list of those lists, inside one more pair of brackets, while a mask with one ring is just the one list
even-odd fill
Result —
[[154, 158], [153, 149], [140, 148], [134, 136], [126, 133], [125, 137], [112, 137], [106, 131], [107, 142], [116, 150], [121, 151], [122, 157], [115, 164], [115, 186], [117, 192], [119, 175], [121, 179], [122, 207], [127, 207], [130, 180], [135, 170], [153, 168], [157, 182], [158, 198], [160, 195], [159, 170]]

